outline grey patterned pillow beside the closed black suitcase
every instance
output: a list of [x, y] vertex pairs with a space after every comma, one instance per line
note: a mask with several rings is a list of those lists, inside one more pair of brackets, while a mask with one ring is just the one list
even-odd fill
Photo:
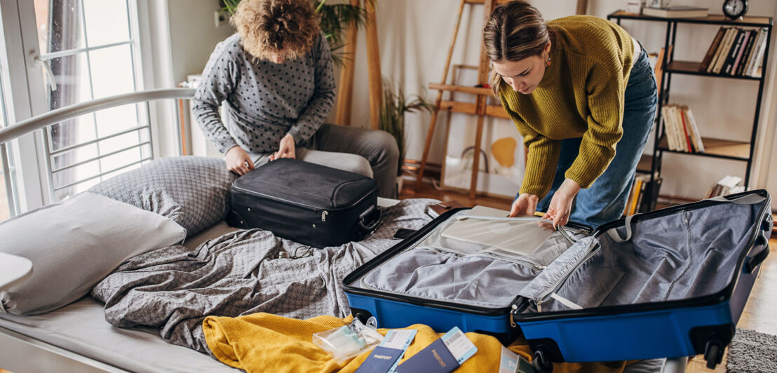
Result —
[[224, 220], [236, 178], [223, 159], [169, 157], [114, 176], [89, 192], [171, 218], [191, 237]]

